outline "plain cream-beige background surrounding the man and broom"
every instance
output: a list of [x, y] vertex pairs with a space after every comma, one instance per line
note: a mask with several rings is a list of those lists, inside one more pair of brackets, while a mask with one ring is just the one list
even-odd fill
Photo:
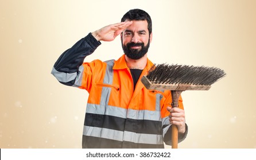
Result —
[[[88, 93], [50, 73], [63, 51], [129, 9], [153, 19], [155, 63], [220, 67], [209, 91], [183, 95], [180, 148], [256, 148], [256, 1], [0, 1], [1, 148], [79, 148]], [[87, 57], [117, 59], [119, 37]]]

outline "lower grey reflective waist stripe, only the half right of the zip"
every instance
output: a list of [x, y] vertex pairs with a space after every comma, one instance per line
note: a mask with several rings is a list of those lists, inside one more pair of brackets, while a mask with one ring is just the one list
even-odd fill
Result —
[[123, 141], [134, 142], [134, 143], [146, 143], [146, 144], [163, 144], [162, 135], [157, 134], [142, 134], [125, 131]]

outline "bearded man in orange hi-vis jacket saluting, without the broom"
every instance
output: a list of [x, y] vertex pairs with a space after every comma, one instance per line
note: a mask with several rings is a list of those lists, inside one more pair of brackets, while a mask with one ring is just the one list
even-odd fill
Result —
[[[83, 63], [100, 41], [113, 41], [119, 34], [121, 58]], [[177, 125], [179, 142], [187, 136], [182, 99], [172, 109], [170, 91], [148, 90], [140, 81], [153, 66], [147, 58], [151, 41], [149, 14], [134, 9], [121, 23], [82, 38], [55, 63], [52, 74], [60, 83], [89, 93], [83, 148], [164, 148], [164, 142], [171, 145], [170, 125]]]

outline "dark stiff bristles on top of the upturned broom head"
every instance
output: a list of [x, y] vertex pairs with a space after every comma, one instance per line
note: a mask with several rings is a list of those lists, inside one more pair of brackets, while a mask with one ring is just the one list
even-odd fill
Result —
[[146, 77], [155, 84], [212, 85], [225, 75], [222, 69], [216, 67], [162, 63], [154, 65]]

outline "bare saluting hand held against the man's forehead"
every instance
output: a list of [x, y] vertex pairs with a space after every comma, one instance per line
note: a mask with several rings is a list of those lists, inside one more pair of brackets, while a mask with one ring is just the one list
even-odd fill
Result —
[[124, 29], [131, 25], [133, 21], [115, 23], [113, 25], [108, 25], [103, 27], [102, 29], [96, 30], [92, 33], [92, 35], [98, 41], [113, 41], [115, 37], [122, 33]]

